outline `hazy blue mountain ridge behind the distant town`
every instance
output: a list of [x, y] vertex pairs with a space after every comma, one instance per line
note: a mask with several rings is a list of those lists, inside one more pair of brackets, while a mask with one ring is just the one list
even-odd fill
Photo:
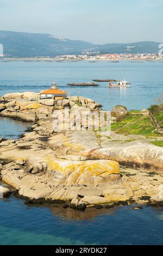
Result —
[[0, 31], [0, 44], [3, 45], [4, 54], [10, 57], [34, 57], [81, 54], [85, 51], [100, 53], [157, 53], [160, 43], [143, 41], [131, 44], [96, 45], [82, 40], [59, 38], [51, 34]]

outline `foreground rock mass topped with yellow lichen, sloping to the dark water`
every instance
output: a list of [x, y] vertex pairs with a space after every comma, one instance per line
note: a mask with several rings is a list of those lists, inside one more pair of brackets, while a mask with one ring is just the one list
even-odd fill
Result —
[[[24, 162], [21, 163], [22, 165], [15, 162], [5, 164], [1, 176], [4, 182], [18, 190], [20, 196], [30, 199], [78, 198], [79, 201], [78, 194], [92, 196], [90, 187], [98, 187], [97, 191], [101, 187], [102, 195], [104, 188], [121, 179], [118, 163], [108, 160], [61, 161], [37, 157], [29, 160], [25, 166]], [[104, 201], [103, 198], [99, 200]]]

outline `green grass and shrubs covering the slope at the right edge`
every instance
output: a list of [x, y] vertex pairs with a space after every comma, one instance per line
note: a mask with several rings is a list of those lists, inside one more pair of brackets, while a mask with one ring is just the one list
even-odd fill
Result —
[[[155, 125], [163, 126], [163, 96], [157, 99], [158, 105], [151, 105], [148, 110], [143, 109], [131, 110], [126, 114], [117, 115], [113, 113], [112, 116], [116, 117], [116, 121], [112, 122], [111, 130], [116, 133], [124, 133], [126, 135], [142, 135], [146, 137], [162, 136], [155, 128]], [[119, 106], [123, 107], [123, 106]], [[123, 107], [123, 109], [126, 109]], [[149, 114], [152, 114], [153, 119]], [[160, 143], [155, 143], [160, 145]]]

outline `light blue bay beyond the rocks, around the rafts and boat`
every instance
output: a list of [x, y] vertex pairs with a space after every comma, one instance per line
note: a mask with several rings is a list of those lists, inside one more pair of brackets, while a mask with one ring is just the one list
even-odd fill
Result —
[[129, 109], [142, 109], [154, 103], [162, 93], [162, 62], [119, 63], [99, 61], [83, 62], [1, 62], [0, 95], [9, 92], [35, 91], [46, 89], [55, 80], [60, 88], [67, 90], [70, 82], [91, 82], [96, 78], [114, 78], [131, 83], [130, 88], [106, 88], [107, 83], [99, 87], [71, 87], [71, 95], [82, 95], [102, 103], [110, 110], [117, 104]]

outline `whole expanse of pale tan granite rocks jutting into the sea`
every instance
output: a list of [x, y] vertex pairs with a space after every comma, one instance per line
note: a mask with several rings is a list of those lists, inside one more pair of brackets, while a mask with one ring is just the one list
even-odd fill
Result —
[[[53, 129], [65, 107], [70, 108], [72, 126], [82, 125], [83, 130]], [[37, 101], [32, 92], [1, 97], [0, 115], [34, 122], [32, 131], [21, 138], [0, 139], [2, 181], [29, 204], [65, 202], [65, 208], [81, 210], [162, 204], [163, 149], [144, 136], [87, 130], [86, 121], [73, 122], [83, 111], [100, 112], [101, 105], [79, 96]]]

